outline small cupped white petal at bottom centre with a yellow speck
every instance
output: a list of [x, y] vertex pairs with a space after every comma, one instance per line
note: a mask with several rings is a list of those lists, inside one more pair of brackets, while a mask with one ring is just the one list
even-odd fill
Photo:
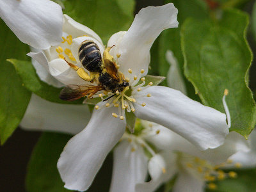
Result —
[[[170, 151], [161, 152], [148, 162], [151, 180], [136, 185], [136, 192], [155, 191], [163, 182], [170, 180], [177, 172], [177, 156]], [[164, 170], [163, 170], [164, 168]]]

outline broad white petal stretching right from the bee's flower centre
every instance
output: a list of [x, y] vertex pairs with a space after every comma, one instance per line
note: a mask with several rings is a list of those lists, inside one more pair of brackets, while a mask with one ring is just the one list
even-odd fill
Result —
[[[228, 134], [226, 115], [189, 99], [172, 88], [152, 86], [140, 92], [134, 106], [138, 118], [151, 120], [171, 129], [202, 150], [216, 148]], [[146, 103], [145, 107], [137, 103]]]

